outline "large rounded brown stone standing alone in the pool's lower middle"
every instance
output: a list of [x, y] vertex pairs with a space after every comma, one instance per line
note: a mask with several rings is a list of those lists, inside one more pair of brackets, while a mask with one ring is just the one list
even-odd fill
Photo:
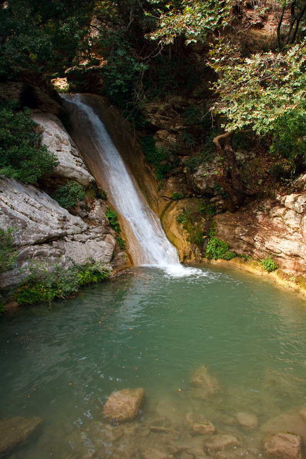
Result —
[[138, 415], [144, 399], [144, 390], [122, 389], [110, 395], [103, 412], [111, 422], [131, 421]]

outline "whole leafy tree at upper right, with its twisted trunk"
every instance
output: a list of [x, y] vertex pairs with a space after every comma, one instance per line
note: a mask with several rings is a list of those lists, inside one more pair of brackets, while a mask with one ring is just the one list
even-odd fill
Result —
[[[297, 30], [306, 10], [303, 3], [298, 5], [297, 2], [290, 2], [291, 19], [285, 44], [293, 43], [297, 38]], [[184, 5], [183, 10], [171, 10], [168, 14], [162, 14], [158, 20], [159, 29], [151, 38], [159, 38], [167, 43], [173, 40], [175, 34], [184, 33], [187, 43], [203, 41], [207, 39], [209, 31], [222, 32], [222, 27], [230, 20], [231, 8], [235, 3], [207, 2], [207, 9], [205, 3], [197, 0], [186, 1]], [[279, 24], [282, 24], [289, 3], [286, 2], [283, 8], [282, 5], [278, 3], [281, 10]], [[215, 13], [221, 7], [223, 9], [219, 10], [221, 17], [218, 22]], [[281, 25], [277, 30], [278, 35], [280, 28]], [[298, 135], [293, 124], [298, 118], [299, 126], [302, 127], [306, 120], [305, 59], [305, 41], [281, 53], [271, 50], [243, 57], [239, 48], [231, 43], [230, 35], [223, 31], [223, 37], [222, 33], [219, 33], [219, 37], [216, 34], [214, 36], [208, 64], [215, 70], [218, 80], [212, 85], [217, 97], [211, 112], [213, 117], [223, 117], [221, 127], [225, 133], [215, 137], [213, 142], [219, 156], [226, 161], [226, 166], [216, 175], [216, 181], [223, 186], [236, 206], [243, 203], [248, 193], [243, 187], [236, 163], [232, 147], [233, 135], [236, 131], [250, 129], [256, 135], [272, 134], [274, 139], [279, 138], [284, 119], [291, 137]], [[304, 131], [301, 129], [301, 132]], [[301, 156], [301, 145], [298, 139], [291, 140], [291, 144], [295, 145], [294, 154], [289, 153], [291, 171], [294, 172], [294, 160]]]

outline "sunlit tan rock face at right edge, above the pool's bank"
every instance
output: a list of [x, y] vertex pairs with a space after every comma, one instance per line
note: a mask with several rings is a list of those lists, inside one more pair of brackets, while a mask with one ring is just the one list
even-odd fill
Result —
[[260, 207], [217, 217], [216, 237], [254, 259], [272, 256], [288, 273], [306, 271], [306, 194], [267, 199]]

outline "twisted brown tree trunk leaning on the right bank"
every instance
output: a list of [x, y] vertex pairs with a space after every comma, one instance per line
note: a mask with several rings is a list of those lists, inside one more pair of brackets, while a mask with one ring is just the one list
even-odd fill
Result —
[[[236, 156], [232, 147], [234, 131], [226, 132], [214, 138], [213, 142], [217, 148], [217, 151], [221, 157], [223, 157], [227, 163], [228, 168], [230, 169], [230, 181], [226, 180], [226, 177], [216, 176], [216, 182], [219, 183], [226, 193], [232, 199], [236, 207], [242, 206], [246, 192], [244, 191], [240, 172], [236, 162]], [[222, 148], [220, 142], [224, 142], [224, 147]]]

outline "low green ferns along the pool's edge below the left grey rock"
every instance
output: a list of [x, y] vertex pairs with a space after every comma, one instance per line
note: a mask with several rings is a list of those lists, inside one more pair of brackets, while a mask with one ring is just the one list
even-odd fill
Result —
[[21, 304], [51, 302], [55, 298], [71, 296], [78, 292], [80, 286], [100, 282], [111, 272], [112, 268], [101, 261], [84, 266], [72, 263], [66, 269], [59, 264], [53, 269], [47, 265], [31, 265], [25, 284], [16, 291], [16, 300]]

